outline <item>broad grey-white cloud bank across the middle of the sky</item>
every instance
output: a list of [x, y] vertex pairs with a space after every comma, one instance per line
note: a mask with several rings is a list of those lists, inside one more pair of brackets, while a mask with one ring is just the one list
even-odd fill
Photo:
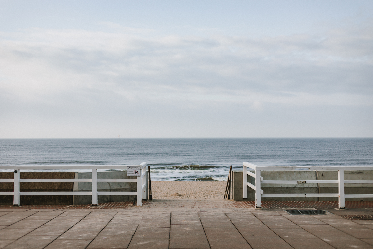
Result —
[[104, 25], [1, 32], [3, 117], [373, 106], [371, 24], [262, 38]]

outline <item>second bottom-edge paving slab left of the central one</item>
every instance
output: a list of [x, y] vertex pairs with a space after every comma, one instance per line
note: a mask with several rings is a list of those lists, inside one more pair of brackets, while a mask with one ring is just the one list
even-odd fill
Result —
[[100, 249], [100, 248], [127, 248], [129, 242], [131, 242], [132, 236], [122, 235], [98, 235], [90, 243], [87, 249]]

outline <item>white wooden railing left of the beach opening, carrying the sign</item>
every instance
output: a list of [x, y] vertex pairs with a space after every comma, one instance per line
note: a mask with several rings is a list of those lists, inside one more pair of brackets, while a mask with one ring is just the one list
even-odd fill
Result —
[[[140, 167], [140, 176], [136, 179], [110, 179], [97, 178], [97, 170], [107, 170], [107, 169], [119, 169], [125, 170], [127, 167]], [[66, 165], [66, 166], [0, 166], [2, 170], [13, 170], [13, 179], [0, 179], [0, 183], [14, 183], [13, 192], [0, 192], [0, 195], [13, 195], [13, 205], [19, 206], [19, 197], [21, 195], [92, 195], [92, 205], [97, 206], [97, 196], [98, 195], [136, 195], [137, 196], [137, 206], [142, 206], [142, 199], [147, 199], [147, 180], [146, 180], [146, 163], [143, 162], [140, 165]], [[92, 178], [88, 179], [21, 179], [19, 177], [20, 170], [91, 170]], [[145, 180], [144, 180], [145, 178]], [[19, 183], [27, 182], [92, 182], [92, 192], [88, 191], [73, 191], [73, 192], [20, 192]], [[97, 182], [137, 182], [136, 192], [98, 192]]]

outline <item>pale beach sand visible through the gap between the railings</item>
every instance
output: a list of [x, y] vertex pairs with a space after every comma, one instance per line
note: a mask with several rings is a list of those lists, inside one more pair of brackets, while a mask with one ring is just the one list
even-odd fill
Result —
[[153, 199], [224, 198], [226, 181], [151, 181]]

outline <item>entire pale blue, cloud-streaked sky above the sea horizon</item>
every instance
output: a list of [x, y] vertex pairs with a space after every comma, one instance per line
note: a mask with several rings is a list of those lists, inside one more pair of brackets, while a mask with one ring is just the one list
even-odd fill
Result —
[[0, 138], [373, 137], [373, 1], [0, 0]]

